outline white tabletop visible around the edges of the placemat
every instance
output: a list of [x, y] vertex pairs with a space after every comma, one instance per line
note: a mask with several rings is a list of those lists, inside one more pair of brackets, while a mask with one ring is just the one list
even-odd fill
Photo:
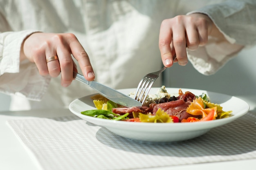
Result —
[[[255, 96], [238, 96], [250, 105], [250, 112], [256, 115]], [[28, 119], [29, 117], [61, 117], [73, 115], [68, 109], [3, 111], [0, 112], [0, 170], [38, 170], [35, 161], [22, 146], [22, 143], [7, 126], [8, 119]], [[255, 141], [256, 142], [256, 141]], [[256, 148], [255, 148], [256, 149]], [[227, 161], [215, 163], [201, 163], [184, 166], [148, 168], [144, 170], [256, 170], [256, 159], [243, 161]], [[140, 169], [141, 170], [141, 169]]]

